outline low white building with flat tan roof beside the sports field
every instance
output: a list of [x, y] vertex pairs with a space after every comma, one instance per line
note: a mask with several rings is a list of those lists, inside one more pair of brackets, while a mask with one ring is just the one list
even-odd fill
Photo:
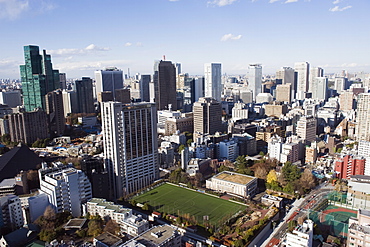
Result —
[[206, 181], [206, 188], [248, 198], [257, 190], [257, 178], [230, 171], [223, 171]]

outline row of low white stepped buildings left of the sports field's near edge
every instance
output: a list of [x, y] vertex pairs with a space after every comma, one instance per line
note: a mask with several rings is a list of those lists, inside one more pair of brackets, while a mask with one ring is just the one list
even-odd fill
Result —
[[87, 213], [100, 215], [103, 219], [112, 219], [121, 230], [131, 236], [137, 236], [149, 229], [149, 223], [141, 215], [134, 215], [132, 209], [124, 208], [105, 199], [92, 198], [86, 204]]

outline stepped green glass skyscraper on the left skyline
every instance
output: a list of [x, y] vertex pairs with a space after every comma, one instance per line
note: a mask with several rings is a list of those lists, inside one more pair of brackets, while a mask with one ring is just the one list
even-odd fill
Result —
[[45, 95], [59, 88], [59, 70], [53, 70], [51, 56], [45, 50], [39, 54], [38, 46], [24, 46], [24, 60], [25, 65], [20, 66], [23, 105], [26, 111], [37, 107], [45, 110]]

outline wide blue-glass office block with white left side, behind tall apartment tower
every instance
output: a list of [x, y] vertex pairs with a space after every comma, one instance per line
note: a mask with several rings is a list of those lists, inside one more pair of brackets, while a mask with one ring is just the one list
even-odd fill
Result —
[[96, 94], [110, 91], [115, 98], [115, 90], [123, 88], [123, 71], [116, 67], [95, 71]]

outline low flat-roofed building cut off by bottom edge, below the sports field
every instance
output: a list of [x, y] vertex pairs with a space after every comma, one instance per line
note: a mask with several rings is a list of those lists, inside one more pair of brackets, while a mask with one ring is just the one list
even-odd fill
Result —
[[119, 247], [180, 247], [181, 234], [170, 225], [155, 226]]

